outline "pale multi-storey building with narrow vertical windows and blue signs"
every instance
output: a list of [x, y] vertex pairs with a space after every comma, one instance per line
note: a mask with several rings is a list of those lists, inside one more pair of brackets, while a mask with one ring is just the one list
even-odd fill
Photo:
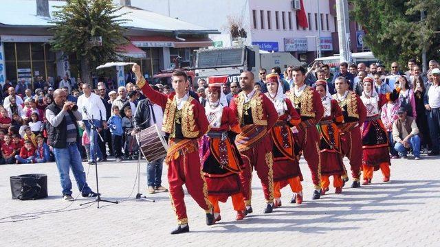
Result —
[[[244, 43], [267, 51], [287, 51], [298, 60], [311, 62], [318, 56], [338, 54], [335, 0], [301, 0], [307, 27], [299, 25], [298, 6], [292, 0], [131, 0], [133, 6], [156, 11], [182, 21], [199, 23], [221, 34], [210, 34], [216, 46], [231, 45], [230, 21], [240, 23], [248, 37]], [[318, 37], [320, 41], [318, 42]], [[350, 23], [351, 51], [363, 51], [362, 31]]]

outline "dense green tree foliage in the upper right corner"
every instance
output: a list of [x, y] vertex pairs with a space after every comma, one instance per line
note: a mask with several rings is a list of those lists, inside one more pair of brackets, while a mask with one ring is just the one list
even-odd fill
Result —
[[[351, 17], [366, 31], [364, 41], [386, 64], [440, 58], [440, 0], [349, 0]], [[426, 19], [421, 21], [421, 11]]]

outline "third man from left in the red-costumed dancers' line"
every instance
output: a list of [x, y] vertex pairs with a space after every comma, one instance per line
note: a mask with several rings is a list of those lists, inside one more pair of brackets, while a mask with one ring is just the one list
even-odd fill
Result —
[[[321, 188], [321, 159], [319, 150], [319, 133], [316, 124], [324, 114], [319, 93], [311, 86], [305, 84], [305, 69], [294, 67], [292, 71], [294, 88], [286, 93], [287, 97], [294, 104], [296, 112], [300, 115], [301, 122], [294, 127], [294, 139], [299, 151], [303, 151], [307, 165], [311, 172], [311, 180], [314, 183], [312, 199], [320, 198]], [[298, 195], [294, 195], [298, 196]], [[299, 195], [300, 196], [300, 195]], [[302, 198], [298, 198], [300, 200]], [[291, 203], [295, 203], [292, 198]]]

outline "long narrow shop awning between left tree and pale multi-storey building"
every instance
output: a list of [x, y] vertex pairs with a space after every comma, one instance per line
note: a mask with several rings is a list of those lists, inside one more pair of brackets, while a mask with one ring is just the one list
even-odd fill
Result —
[[130, 36], [129, 40], [136, 47], [209, 47], [212, 46], [210, 38], [184, 38], [179, 40], [170, 36]]

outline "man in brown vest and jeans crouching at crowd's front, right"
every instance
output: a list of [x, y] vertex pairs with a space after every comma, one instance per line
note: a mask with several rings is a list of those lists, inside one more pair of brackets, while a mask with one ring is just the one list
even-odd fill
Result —
[[412, 150], [414, 158], [420, 159], [419, 128], [412, 117], [406, 116], [404, 107], [397, 110], [399, 119], [393, 123], [393, 139], [396, 142], [394, 149], [399, 152], [401, 158], [406, 158], [408, 150]]

